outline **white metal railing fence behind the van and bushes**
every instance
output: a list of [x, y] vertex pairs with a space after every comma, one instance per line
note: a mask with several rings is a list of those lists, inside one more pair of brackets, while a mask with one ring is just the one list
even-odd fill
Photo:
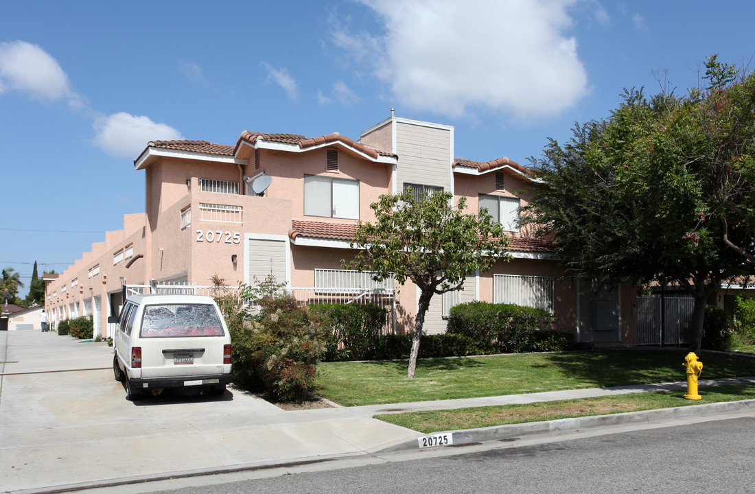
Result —
[[[311, 305], [320, 303], [329, 304], [373, 304], [378, 305], [387, 311], [383, 333], [396, 333], [396, 296], [393, 288], [286, 288], [285, 291], [291, 293], [299, 305]], [[163, 295], [203, 295], [211, 296], [214, 299], [223, 296], [236, 297], [237, 302], [241, 302], [241, 296], [238, 287], [215, 287], [188, 285], [181, 283], [168, 283], [151, 285], [126, 285], [126, 295], [146, 293], [160, 293]], [[253, 301], [244, 302], [254, 307]]]

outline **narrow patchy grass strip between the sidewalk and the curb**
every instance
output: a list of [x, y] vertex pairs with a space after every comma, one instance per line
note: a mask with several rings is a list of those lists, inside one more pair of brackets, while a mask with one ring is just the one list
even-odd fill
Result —
[[701, 400], [685, 400], [683, 391], [653, 391], [612, 397], [547, 401], [501, 407], [383, 414], [375, 416], [375, 418], [424, 434], [433, 434], [441, 431], [491, 427], [493, 425], [687, 407], [701, 403], [752, 400], [755, 399], [755, 385], [713, 386], [701, 388], [700, 394]]

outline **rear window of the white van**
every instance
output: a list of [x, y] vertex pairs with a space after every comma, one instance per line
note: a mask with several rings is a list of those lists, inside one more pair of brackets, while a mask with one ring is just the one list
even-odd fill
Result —
[[223, 325], [220, 324], [220, 318], [213, 305], [146, 305], [140, 336], [223, 336]]

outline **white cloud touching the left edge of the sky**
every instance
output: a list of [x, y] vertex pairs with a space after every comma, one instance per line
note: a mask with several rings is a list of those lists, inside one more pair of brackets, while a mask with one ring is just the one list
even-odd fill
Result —
[[65, 99], [72, 106], [82, 105], [57, 60], [26, 41], [0, 43], [0, 93], [8, 90], [22, 91], [32, 99]]

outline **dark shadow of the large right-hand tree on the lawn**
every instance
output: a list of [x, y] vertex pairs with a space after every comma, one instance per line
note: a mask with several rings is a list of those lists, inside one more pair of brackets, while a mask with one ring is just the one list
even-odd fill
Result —
[[[562, 354], [544, 354], [551, 365], [562, 369], [564, 376], [599, 388], [622, 385], [656, 384], [686, 381], [684, 357], [680, 349], [590, 350]], [[701, 354], [701, 379], [755, 375], [755, 359], [729, 354]]]

